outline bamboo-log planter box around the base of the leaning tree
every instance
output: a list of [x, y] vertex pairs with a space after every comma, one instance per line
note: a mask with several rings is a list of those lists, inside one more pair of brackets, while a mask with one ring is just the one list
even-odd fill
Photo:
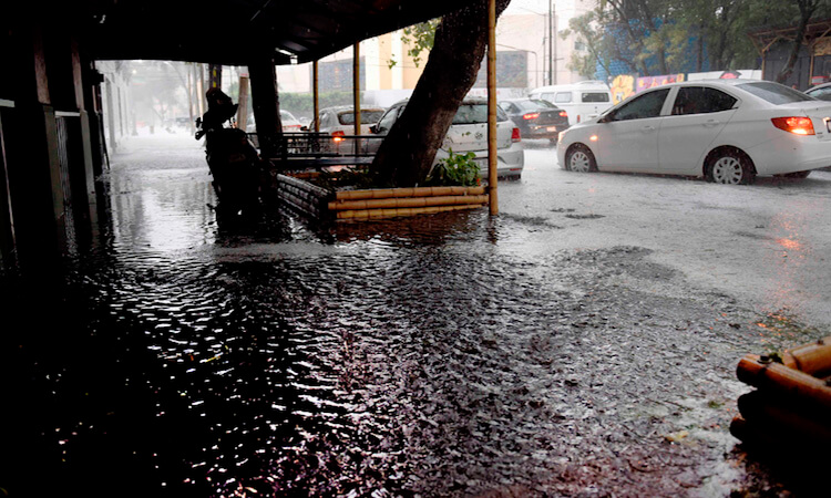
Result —
[[488, 205], [484, 187], [377, 188], [332, 191], [277, 175], [278, 197], [319, 220], [370, 220], [427, 215]]

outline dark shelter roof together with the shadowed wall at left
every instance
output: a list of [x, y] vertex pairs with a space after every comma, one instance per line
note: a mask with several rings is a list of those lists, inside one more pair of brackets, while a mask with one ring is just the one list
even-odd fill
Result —
[[[91, 240], [106, 168], [95, 61], [157, 59], [247, 65], [260, 132], [279, 129], [275, 64], [316, 61], [432, 19], [462, 0], [160, 0], [7, 2], [0, 7], [2, 267]], [[275, 138], [261, 144], [271, 156]]]

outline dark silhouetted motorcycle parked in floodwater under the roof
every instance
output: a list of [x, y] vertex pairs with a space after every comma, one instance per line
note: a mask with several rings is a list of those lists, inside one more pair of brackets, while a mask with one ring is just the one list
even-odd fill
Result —
[[239, 216], [259, 207], [260, 157], [248, 135], [225, 124], [238, 104], [219, 89], [206, 92], [208, 110], [196, 120], [196, 139], [205, 137], [205, 154], [219, 200], [218, 215]]

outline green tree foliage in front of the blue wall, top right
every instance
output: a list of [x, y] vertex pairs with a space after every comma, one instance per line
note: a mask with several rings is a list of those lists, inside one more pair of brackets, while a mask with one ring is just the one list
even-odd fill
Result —
[[[712, 70], [756, 68], [759, 53], [748, 32], [796, 27], [801, 4], [815, 7], [813, 19], [831, 14], [828, 0], [603, 0], [561, 35], [575, 33], [586, 45], [568, 66], [589, 77], [596, 64], [608, 70], [612, 60], [640, 75], [677, 73], [690, 61]], [[691, 51], [690, 40], [700, 42]]]

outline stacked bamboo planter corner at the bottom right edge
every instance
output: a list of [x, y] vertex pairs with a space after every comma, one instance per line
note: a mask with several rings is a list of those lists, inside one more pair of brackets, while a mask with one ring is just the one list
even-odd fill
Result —
[[760, 447], [788, 442], [831, 448], [831, 336], [781, 359], [748, 354], [737, 376], [757, 390], [739, 397], [733, 436]]

